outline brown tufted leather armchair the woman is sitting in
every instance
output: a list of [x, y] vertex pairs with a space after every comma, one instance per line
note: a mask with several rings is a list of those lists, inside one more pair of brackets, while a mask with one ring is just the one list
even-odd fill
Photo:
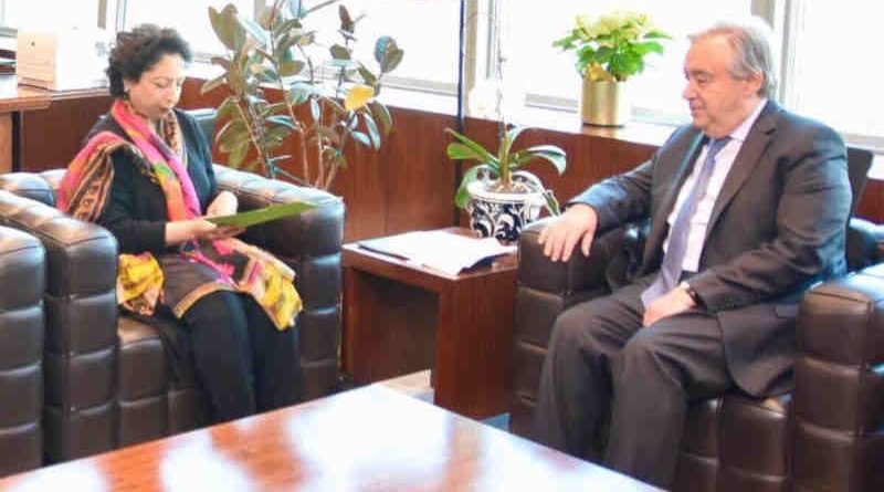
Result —
[[[116, 306], [117, 244], [104, 228], [54, 208], [64, 170], [0, 175], [0, 223], [40, 238], [46, 250], [45, 462], [134, 444], [206, 423], [191, 371], [170, 373], [155, 328]], [[241, 210], [294, 199], [323, 205], [250, 228], [243, 239], [296, 271], [305, 397], [338, 386], [344, 203], [325, 191], [215, 166]], [[2, 191], [6, 190], [6, 191]], [[186, 339], [175, 344], [186, 348]]]

